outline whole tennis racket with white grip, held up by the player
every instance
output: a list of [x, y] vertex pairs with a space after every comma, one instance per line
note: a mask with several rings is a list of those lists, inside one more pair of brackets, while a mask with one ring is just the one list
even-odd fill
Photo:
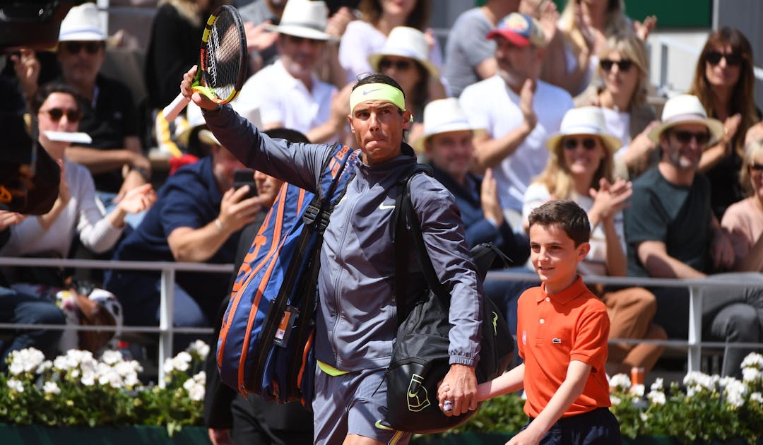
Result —
[[[201, 35], [201, 53], [191, 88], [218, 104], [227, 104], [241, 91], [246, 79], [246, 34], [241, 17], [233, 6], [214, 10]], [[179, 94], [164, 108], [164, 117], [173, 121], [190, 99]]]

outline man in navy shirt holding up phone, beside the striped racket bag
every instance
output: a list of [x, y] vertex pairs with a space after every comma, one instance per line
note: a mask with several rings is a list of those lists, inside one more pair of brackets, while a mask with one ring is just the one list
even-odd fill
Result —
[[[231, 263], [240, 229], [261, 210], [259, 197], [233, 189], [233, 171], [243, 165], [208, 130], [199, 139], [211, 155], [184, 166], [159, 189], [156, 204], [125, 238], [114, 260]], [[178, 326], [209, 326], [227, 292], [230, 273], [178, 272], [173, 314]], [[124, 308], [125, 324], [159, 322], [160, 272], [114, 269], [105, 287]]]

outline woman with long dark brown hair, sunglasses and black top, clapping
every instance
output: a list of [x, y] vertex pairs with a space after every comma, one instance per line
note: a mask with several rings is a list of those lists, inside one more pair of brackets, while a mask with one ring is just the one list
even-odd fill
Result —
[[710, 179], [710, 205], [718, 219], [743, 198], [739, 182], [743, 147], [752, 134], [763, 130], [754, 102], [753, 64], [745, 35], [722, 27], [707, 37], [689, 91], [700, 98], [708, 116], [723, 122], [723, 137], [700, 159], [700, 172]]

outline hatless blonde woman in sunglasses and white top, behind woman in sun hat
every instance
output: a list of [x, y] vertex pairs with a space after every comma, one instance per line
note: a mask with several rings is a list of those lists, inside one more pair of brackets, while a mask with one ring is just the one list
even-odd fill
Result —
[[622, 143], [615, 153], [616, 176], [634, 179], [658, 161], [657, 144], [649, 139], [659, 121], [646, 102], [649, 59], [643, 41], [636, 35], [611, 37], [599, 53], [597, 74], [600, 82], [576, 97], [575, 105], [602, 108], [607, 130]]

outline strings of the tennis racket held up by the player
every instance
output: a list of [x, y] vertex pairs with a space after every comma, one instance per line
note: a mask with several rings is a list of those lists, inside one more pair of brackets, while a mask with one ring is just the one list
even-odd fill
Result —
[[212, 25], [204, 52], [204, 84], [218, 98], [227, 98], [235, 89], [241, 67], [240, 31], [230, 13], [223, 12]]

